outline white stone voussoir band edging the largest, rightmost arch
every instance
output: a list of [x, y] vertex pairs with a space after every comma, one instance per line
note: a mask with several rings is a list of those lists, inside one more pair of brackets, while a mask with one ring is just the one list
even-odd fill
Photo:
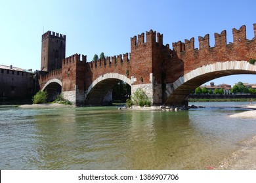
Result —
[[182, 84], [185, 82], [188, 82], [189, 80], [192, 80], [193, 78], [196, 78], [201, 75], [205, 75], [207, 73], [214, 73], [218, 71], [251, 71], [251, 73], [256, 74], [256, 65], [252, 65], [248, 61], [225, 61], [225, 62], [217, 62], [209, 65], [203, 65], [202, 67], [199, 67], [198, 69], [194, 69], [193, 71], [190, 71], [189, 73], [186, 73], [184, 76], [181, 76], [178, 80], [176, 80], [173, 83], [173, 87], [171, 88], [172, 91], [169, 91], [169, 93], [172, 93], [175, 89], [179, 88]]

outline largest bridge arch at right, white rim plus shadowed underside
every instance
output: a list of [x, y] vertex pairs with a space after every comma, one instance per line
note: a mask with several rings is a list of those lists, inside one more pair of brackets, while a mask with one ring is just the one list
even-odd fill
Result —
[[203, 65], [178, 80], [169, 84], [165, 92], [167, 105], [186, 105], [187, 97], [190, 92], [201, 86], [203, 83], [229, 75], [254, 74], [256, 75], [256, 65], [247, 61], [225, 61]]

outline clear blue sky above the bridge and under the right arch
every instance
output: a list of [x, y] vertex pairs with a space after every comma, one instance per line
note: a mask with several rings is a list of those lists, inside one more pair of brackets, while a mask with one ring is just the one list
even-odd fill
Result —
[[[66, 57], [85, 54], [87, 60], [104, 52], [114, 56], [130, 52], [130, 37], [153, 29], [163, 34], [163, 44], [227, 31], [246, 25], [252, 39], [256, 23], [255, 0], [244, 1], [0, 1], [0, 64], [40, 69], [41, 35], [51, 30], [66, 38]], [[256, 83], [256, 75], [236, 75], [215, 84]], [[207, 82], [209, 84], [209, 82]]]

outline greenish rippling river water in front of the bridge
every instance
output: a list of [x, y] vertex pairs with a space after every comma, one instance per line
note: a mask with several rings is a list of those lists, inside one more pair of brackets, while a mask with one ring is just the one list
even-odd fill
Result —
[[0, 107], [0, 169], [207, 169], [246, 146], [248, 103], [177, 112]]

